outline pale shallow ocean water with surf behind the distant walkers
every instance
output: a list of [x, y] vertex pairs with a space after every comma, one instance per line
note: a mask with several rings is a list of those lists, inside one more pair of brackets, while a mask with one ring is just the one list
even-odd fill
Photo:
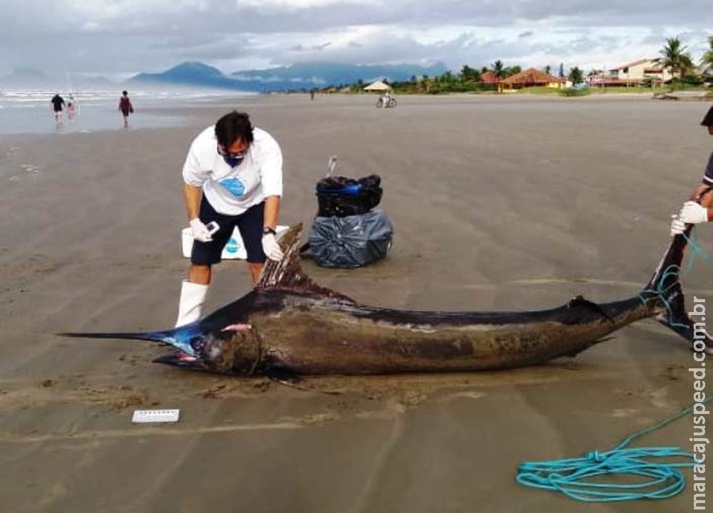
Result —
[[[121, 90], [73, 90], [77, 114], [68, 118], [66, 105], [63, 124], [57, 128], [51, 98], [59, 93], [65, 102], [68, 91], [48, 89], [0, 90], [0, 134], [23, 133], [89, 133], [97, 130], [125, 130], [118, 110]], [[134, 113], [129, 117], [129, 130], [182, 125], [185, 118], [176, 115], [180, 108], [205, 105], [225, 98], [245, 98], [250, 93], [226, 93], [215, 90], [130, 90]], [[167, 113], [155, 109], [166, 108]], [[170, 112], [168, 111], [170, 108]]]

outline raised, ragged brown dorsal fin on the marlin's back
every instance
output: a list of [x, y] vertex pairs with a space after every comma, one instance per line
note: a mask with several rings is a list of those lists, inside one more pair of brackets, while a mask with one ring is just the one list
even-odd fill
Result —
[[279, 247], [284, 253], [284, 258], [280, 261], [268, 259], [265, 262], [255, 289], [257, 291], [280, 289], [298, 294], [319, 294], [340, 301], [356, 303], [349, 296], [315, 284], [307, 274], [304, 274], [302, 266], [299, 265], [299, 236], [301, 234], [302, 223], [293, 224], [287, 229], [287, 232], [282, 234], [282, 237], [279, 238]]

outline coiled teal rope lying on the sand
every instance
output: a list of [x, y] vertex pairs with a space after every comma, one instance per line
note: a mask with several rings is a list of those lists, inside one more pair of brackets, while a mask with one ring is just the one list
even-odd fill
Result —
[[[713, 400], [708, 398], [704, 403]], [[542, 462], [523, 462], [515, 481], [526, 487], [560, 492], [580, 502], [622, 502], [636, 499], [667, 499], [682, 492], [686, 480], [679, 468], [693, 467], [693, 453], [681, 447], [627, 447], [633, 440], [659, 430], [693, 411], [690, 405], [660, 423], [635, 432], [611, 450], [592, 451], [585, 457]], [[683, 458], [684, 462], [651, 460]], [[637, 482], [603, 482], [602, 476], [633, 476]], [[597, 481], [590, 481], [599, 478]]]

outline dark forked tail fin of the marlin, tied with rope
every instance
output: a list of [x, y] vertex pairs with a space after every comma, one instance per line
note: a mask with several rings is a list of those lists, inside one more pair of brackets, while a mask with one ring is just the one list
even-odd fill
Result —
[[692, 231], [689, 224], [683, 234], [672, 237], [656, 271], [640, 293], [642, 301], [655, 301], [661, 309], [656, 320], [691, 343], [696, 351], [713, 353], [713, 338], [703, 323], [694, 323], [686, 309], [686, 296], [680, 281], [682, 262]]

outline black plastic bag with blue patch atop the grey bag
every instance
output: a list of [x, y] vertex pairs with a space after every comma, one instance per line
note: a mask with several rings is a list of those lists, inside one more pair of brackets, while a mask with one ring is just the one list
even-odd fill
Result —
[[381, 201], [381, 177], [369, 175], [354, 179], [327, 177], [317, 182], [318, 217], [345, 217], [366, 214]]

